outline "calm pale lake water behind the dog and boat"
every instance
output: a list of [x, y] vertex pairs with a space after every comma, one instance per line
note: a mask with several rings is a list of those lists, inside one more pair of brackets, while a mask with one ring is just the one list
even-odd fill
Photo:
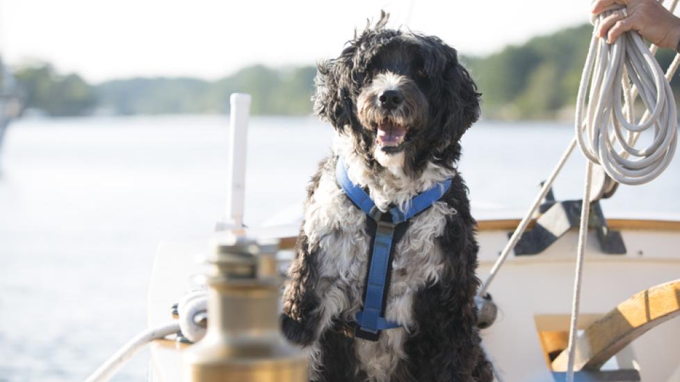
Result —
[[[226, 117], [25, 120], [0, 155], [0, 381], [79, 381], [145, 327], [156, 244], [208, 234], [225, 208]], [[295, 212], [332, 130], [313, 118], [252, 120], [247, 223]], [[478, 217], [519, 215], [572, 137], [567, 124], [482, 122], [460, 165]], [[622, 187], [609, 216], [680, 213], [676, 160]], [[578, 199], [576, 153], [556, 183]], [[145, 381], [148, 353], [115, 381]]]

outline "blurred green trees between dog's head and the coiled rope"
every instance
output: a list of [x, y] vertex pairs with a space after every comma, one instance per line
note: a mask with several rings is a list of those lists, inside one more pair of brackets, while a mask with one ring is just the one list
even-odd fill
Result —
[[[583, 24], [487, 57], [467, 58], [483, 93], [483, 114], [495, 119], [573, 119], [591, 37], [592, 26]], [[675, 54], [660, 49], [656, 59], [665, 69]], [[671, 86], [680, 94], [677, 76]]]

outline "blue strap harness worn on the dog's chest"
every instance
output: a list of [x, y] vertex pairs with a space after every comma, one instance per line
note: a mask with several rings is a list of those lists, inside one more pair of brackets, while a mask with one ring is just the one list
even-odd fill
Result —
[[364, 309], [357, 313], [355, 335], [366, 340], [377, 341], [380, 331], [400, 326], [384, 318], [391, 275], [391, 258], [395, 244], [405, 233], [409, 219], [430, 208], [435, 201], [446, 194], [451, 188], [451, 179], [446, 179], [418, 194], [409, 201], [408, 209], [402, 213], [397, 207], [389, 208], [386, 212], [378, 209], [369, 194], [350, 181], [342, 157], [338, 158], [335, 175], [349, 199], [371, 217], [367, 219], [368, 231], [372, 239], [369, 253], [370, 266], [364, 288]]

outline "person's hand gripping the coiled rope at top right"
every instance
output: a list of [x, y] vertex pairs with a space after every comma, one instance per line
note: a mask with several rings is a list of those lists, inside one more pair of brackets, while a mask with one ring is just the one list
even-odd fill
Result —
[[661, 48], [678, 49], [680, 42], [680, 19], [675, 17], [656, 0], [595, 0], [591, 12], [598, 15], [613, 4], [626, 6], [628, 17], [615, 12], [605, 17], [597, 35], [613, 44], [624, 32], [638, 31], [649, 42]]

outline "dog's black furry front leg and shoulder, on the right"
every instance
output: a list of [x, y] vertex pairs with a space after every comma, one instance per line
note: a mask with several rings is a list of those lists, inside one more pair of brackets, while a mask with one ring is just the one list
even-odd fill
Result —
[[[459, 185], [462, 183], [458, 183]], [[454, 187], [456, 186], [454, 185]], [[476, 329], [474, 295], [478, 244], [464, 191], [453, 204], [458, 214], [446, 224], [439, 246], [444, 251], [444, 270], [437, 283], [419, 291], [414, 299], [416, 328], [407, 340], [408, 358], [400, 364], [394, 381], [490, 382], [491, 365], [480, 347]]]

